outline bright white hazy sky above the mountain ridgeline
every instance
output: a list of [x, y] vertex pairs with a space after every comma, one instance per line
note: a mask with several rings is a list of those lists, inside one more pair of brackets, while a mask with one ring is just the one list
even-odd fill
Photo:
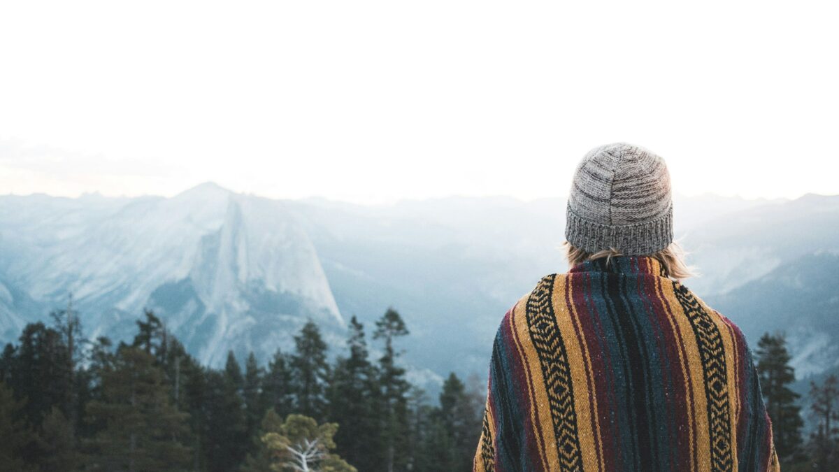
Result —
[[836, 3], [0, 3], [0, 194], [839, 193]]

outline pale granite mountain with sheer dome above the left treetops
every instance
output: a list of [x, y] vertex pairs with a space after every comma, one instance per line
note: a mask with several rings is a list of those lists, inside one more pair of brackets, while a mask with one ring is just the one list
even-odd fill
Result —
[[88, 337], [128, 338], [148, 307], [214, 366], [229, 349], [290, 349], [307, 318], [342, 338], [315, 248], [283, 202], [208, 183], [172, 198], [3, 197], [0, 216], [5, 340], [70, 292]]

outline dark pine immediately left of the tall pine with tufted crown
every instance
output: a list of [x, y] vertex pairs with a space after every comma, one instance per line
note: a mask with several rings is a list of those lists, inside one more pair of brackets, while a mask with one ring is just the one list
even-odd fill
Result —
[[342, 426], [335, 436], [337, 452], [361, 470], [373, 470], [381, 450], [375, 396], [376, 371], [367, 353], [364, 327], [355, 316], [347, 339], [350, 355], [336, 359], [329, 385], [330, 421]]

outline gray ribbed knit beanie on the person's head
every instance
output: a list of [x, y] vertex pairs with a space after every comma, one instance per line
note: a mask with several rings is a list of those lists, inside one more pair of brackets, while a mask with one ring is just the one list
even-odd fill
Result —
[[673, 241], [667, 165], [649, 149], [613, 143], [577, 165], [565, 212], [565, 239], [589, 253], [653, 254]]

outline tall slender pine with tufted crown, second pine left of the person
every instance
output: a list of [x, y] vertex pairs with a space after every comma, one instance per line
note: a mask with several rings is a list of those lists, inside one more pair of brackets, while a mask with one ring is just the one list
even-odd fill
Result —
[[408, 328], [399, 312], [388, 310], [376, 321], [374, 339], [384, 339], [384, 354], [379, 359], [379, 385], [382, 389], [385, 470], [404, 470], [408, 463], [408, 399], [410, 385], [405, 370], [397, 364], [399, 354], [393, 348], [396, 338], [407, 335]]

